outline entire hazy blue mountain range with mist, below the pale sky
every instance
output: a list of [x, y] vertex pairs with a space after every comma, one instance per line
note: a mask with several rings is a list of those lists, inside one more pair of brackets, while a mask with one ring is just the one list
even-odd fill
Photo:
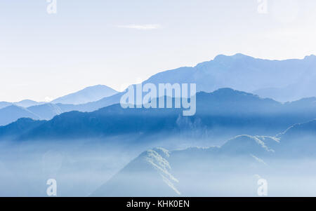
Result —
[[[265, 178], [276, 195], [313, 196], [315, 61], [218, 55], [143, 82], [196, 83], [195, 116], [123, 109], [126, 90], [105, 86], [52, 102], [0, 102], [1, 189], [38, 196], [48, 177], [62, 196], [256, 196]], [[55, 163], [49, 176], [43, 161]]]

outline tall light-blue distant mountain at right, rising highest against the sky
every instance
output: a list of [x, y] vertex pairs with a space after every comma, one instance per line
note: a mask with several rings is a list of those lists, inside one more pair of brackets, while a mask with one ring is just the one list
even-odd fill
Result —
[[315, 97], [316, 56], [303, 60], [262, 60], [247, 55], [218, 55], [195, 67], [160, 72], [144, 83], [197, 83], [197, 91], [233, 88], [280, 102]]

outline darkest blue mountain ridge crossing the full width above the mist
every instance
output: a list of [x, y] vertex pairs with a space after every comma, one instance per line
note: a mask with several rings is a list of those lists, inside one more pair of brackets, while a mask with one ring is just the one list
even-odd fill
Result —
[[282, 104], [230, 88], [196, 97], [195, 116], [183, 116], [182, 109], [123, 109], [114, 104], [90, 113], [67, 112], [51, 121], [22, 118], [0, 127], [0, 139], [102, 139], [130, 134], [138, 135], [138, 142], [148, 142], [150, 136], [152, 141], [173, 136], [216, 141], [240, 134], [275, 135], [316, 118], [315, 98]]

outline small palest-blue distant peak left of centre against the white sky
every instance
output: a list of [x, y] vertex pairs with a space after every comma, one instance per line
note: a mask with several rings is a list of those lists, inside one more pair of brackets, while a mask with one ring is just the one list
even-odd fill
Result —
[[51, 103], [53, 104], [85, 104], [87, 102], [94, 102], [101, 100], [104, 97], [110, 97], [117, 94], [118, 92], [108, 86], [97, 85], [84, 88], [79, 90], [77, 93], [72, 93], [70, 95], [65, 95], [59, 97]]

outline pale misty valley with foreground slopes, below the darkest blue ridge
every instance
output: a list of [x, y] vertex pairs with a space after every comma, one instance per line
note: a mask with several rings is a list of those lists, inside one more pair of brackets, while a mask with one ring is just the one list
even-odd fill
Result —
[[260, 179], [268, 196], [315, 196], [316, 136], [300, 126], [218, 147], [184, 137], [135, 144], [137, 135], [1, 142], [0, 195], [47, 196], [54, 178], [58, 196], [258, 196]]

